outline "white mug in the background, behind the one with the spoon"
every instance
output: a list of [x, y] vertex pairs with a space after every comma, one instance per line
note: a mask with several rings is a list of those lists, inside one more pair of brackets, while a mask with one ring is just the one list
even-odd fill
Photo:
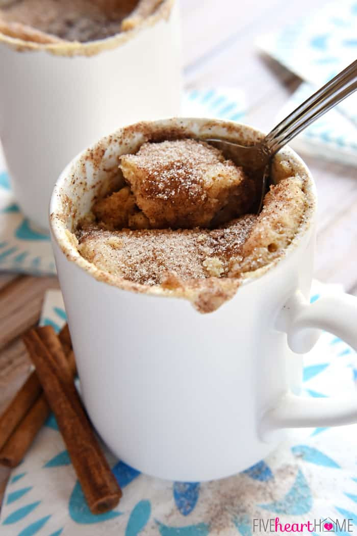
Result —
[[48, 229], [64, 166], [130, 122], [179, 113], [178, 6], [138, 29], [88, 43], [40, 44], [0, 33], [0, 139], [22, 212]]

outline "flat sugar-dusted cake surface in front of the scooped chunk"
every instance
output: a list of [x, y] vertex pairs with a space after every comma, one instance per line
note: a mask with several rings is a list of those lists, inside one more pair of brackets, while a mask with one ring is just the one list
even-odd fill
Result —
[[[246, 215], [222, 229], [81, 230], [80, 254], [102, 270], [143, 285], [224, 277], [256, 217]], [[168, 278], [173, 274], [173, 279]]]

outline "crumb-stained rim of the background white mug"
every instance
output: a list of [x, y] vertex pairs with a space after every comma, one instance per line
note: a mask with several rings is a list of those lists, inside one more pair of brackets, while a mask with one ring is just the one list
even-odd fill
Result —
[[14, 38], [0, 31], [0, 44], [6, 44], [17, 52], [46, 51], [54, 56], [95, 56], [104, 50], [119, 48], [131, 41], [143, 29], [155, 26], [160, 20], [168, 19], [176, 0], [163, 0], [153, 13], [143, 19], [137, 26], [125, 32], [119, 32], [105, 39], [95, 41], [64, 41], [59, 43], [38, 43]]

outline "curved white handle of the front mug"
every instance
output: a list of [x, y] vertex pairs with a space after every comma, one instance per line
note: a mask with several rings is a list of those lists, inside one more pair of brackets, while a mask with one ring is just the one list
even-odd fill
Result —
[[[322, 296], [313, 304], [297, 291], [277, 318], [277, 329], [286, 332], [293, 352], [304, 354], [326, 330], [357, 351], [357, 298], [348, 294]], [[339, 398], [304, 398], [285, 393], [263, 414], [260, 437], [270, 441], [276, 430], [342, 426], [357, 422], [357, 395]]]

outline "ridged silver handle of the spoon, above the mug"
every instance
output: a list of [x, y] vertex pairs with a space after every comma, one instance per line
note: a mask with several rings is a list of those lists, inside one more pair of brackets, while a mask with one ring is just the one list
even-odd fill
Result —
[[270, 154], [275, 154], [301, 130], [357, 90], [357, 60], [317, 90], [280, 122], [264, 139]]

